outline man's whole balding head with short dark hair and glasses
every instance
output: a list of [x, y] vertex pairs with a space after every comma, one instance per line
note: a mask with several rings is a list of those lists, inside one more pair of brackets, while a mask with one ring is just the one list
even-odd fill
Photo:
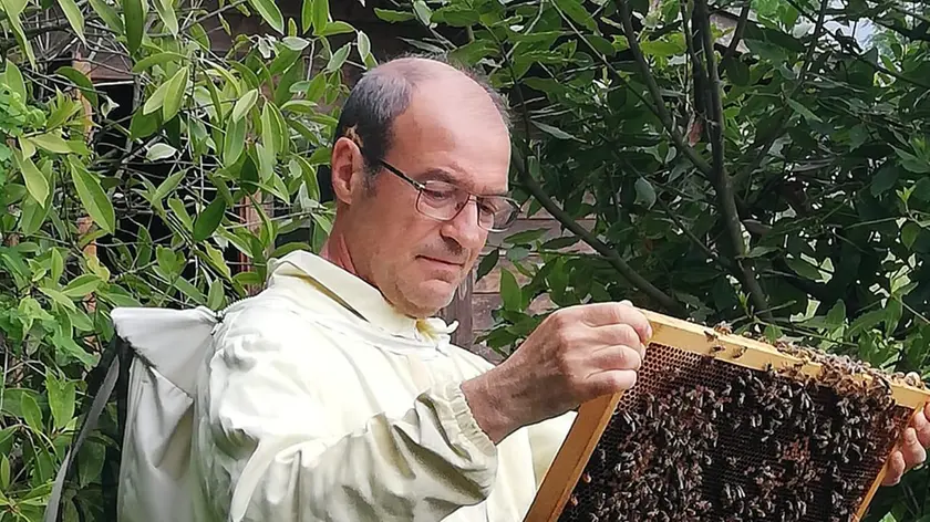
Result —
[[[479, 75], [423, 58], [380, 65], [337, 127], [330, 259], [400, 311], [436, 313], [480, 253], [486, 218], [506, 207], [467, 195], [507, 192], [509, 160], [503, 98]], [[452, 215], [435, 216], [447, 201]]]

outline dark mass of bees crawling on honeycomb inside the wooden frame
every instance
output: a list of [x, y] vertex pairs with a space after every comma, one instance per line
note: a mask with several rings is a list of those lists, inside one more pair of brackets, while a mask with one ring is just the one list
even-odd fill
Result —
[[[908, 409], [879, 372], [779, 349], [802, 363], [757, 370], [650, 347], [559, 520], [854, 520]], [[816, 378], [798, 370], [810, 361]]]

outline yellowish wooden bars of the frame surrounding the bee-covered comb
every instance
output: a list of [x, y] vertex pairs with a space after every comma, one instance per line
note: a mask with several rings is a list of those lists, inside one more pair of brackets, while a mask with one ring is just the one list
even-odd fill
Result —
[[[643, 311], [643, 313], [652, 325], [653, 335], [649, 340], [650, 345], [654, 343], [695, 354], [712, 355], [716, 359], [758, 370], [769, 365], [773, 368], [795, 367], [799, 368], [800, 374], [816, 377], [823, 369], [816, 362], [806, 362], [802, 365], [800, 358], [779, 351], [771, 344], [654, 312]], [[868, 375], [854, 377], [857, 380], [872, 378]], [[911, 409], [911, 415], [920, 411], [930, 401], [930, 392], [927, 389], [891, 383], [891, 390], [897, 405]], [[527, 512], [526, 522], [556, 522], [559, 519], [621, 397], [622, 394], [602, 396], [581, 405], [568, 436]], [[861, 519], [868, 509], [886, 472], [887, 462], [858, 507], [858, 519]]]

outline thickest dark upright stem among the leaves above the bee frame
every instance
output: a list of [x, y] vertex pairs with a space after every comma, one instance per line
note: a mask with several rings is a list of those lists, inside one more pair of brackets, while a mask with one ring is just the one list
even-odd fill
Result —
[[[724, 118], [723, 118], [723, 100], [721, 98], [720, 75], [717, 74], [716, 56], [714, 54], [714, 36], [711, 33], [711, 13], [707, 9], [707, 0], [696, 0], [695, 10], [698, 23], [701, 24], [701, 40], [704, 48], [704, 62], [706, 64], [706, 73], [710, 84], [707, 88], [711, 94], [711, 117], [710, 135], [711, 149], [713, 154], [713, 177], [712, 182], [716, 189], [720, 208], [723, 211], [723, 221], [730, 236], [730, 243], [733, 248], [733, 257], [736, 265], [740, 268], [743, 284], [746, 288], [753, 305], [757, 313], [765, 319], [771, 319], [772, 312], [768, 310], [768, 299], [765, 291], [756, 278], [755, 267], [751, 259], [745, 258], [746, 241], [743, 239], [743, 229], [740, 223], [740, 215], [736, 211], [736, 199], [733, 196], [733, 187], [730, 184], [730, 175], [726, 174], [725, 163], [725, 143], [723, 136]], [[695, 64], [696, 65], [696, 64]]]

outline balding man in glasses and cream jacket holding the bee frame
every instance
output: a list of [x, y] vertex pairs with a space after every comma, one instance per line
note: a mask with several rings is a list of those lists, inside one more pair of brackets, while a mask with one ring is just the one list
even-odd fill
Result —
[[322, 254], [272, 263], [216, 331], [197, 520], [523, 519], [572, 408], [632, 386], [651, 331], [629, 303], [601, 303], [554, 313], [497, 367], [450, 345], [431, 317], [513, 218], [509, 157], [499, 96], [465, 73], [400, 59], [360, 81]]

